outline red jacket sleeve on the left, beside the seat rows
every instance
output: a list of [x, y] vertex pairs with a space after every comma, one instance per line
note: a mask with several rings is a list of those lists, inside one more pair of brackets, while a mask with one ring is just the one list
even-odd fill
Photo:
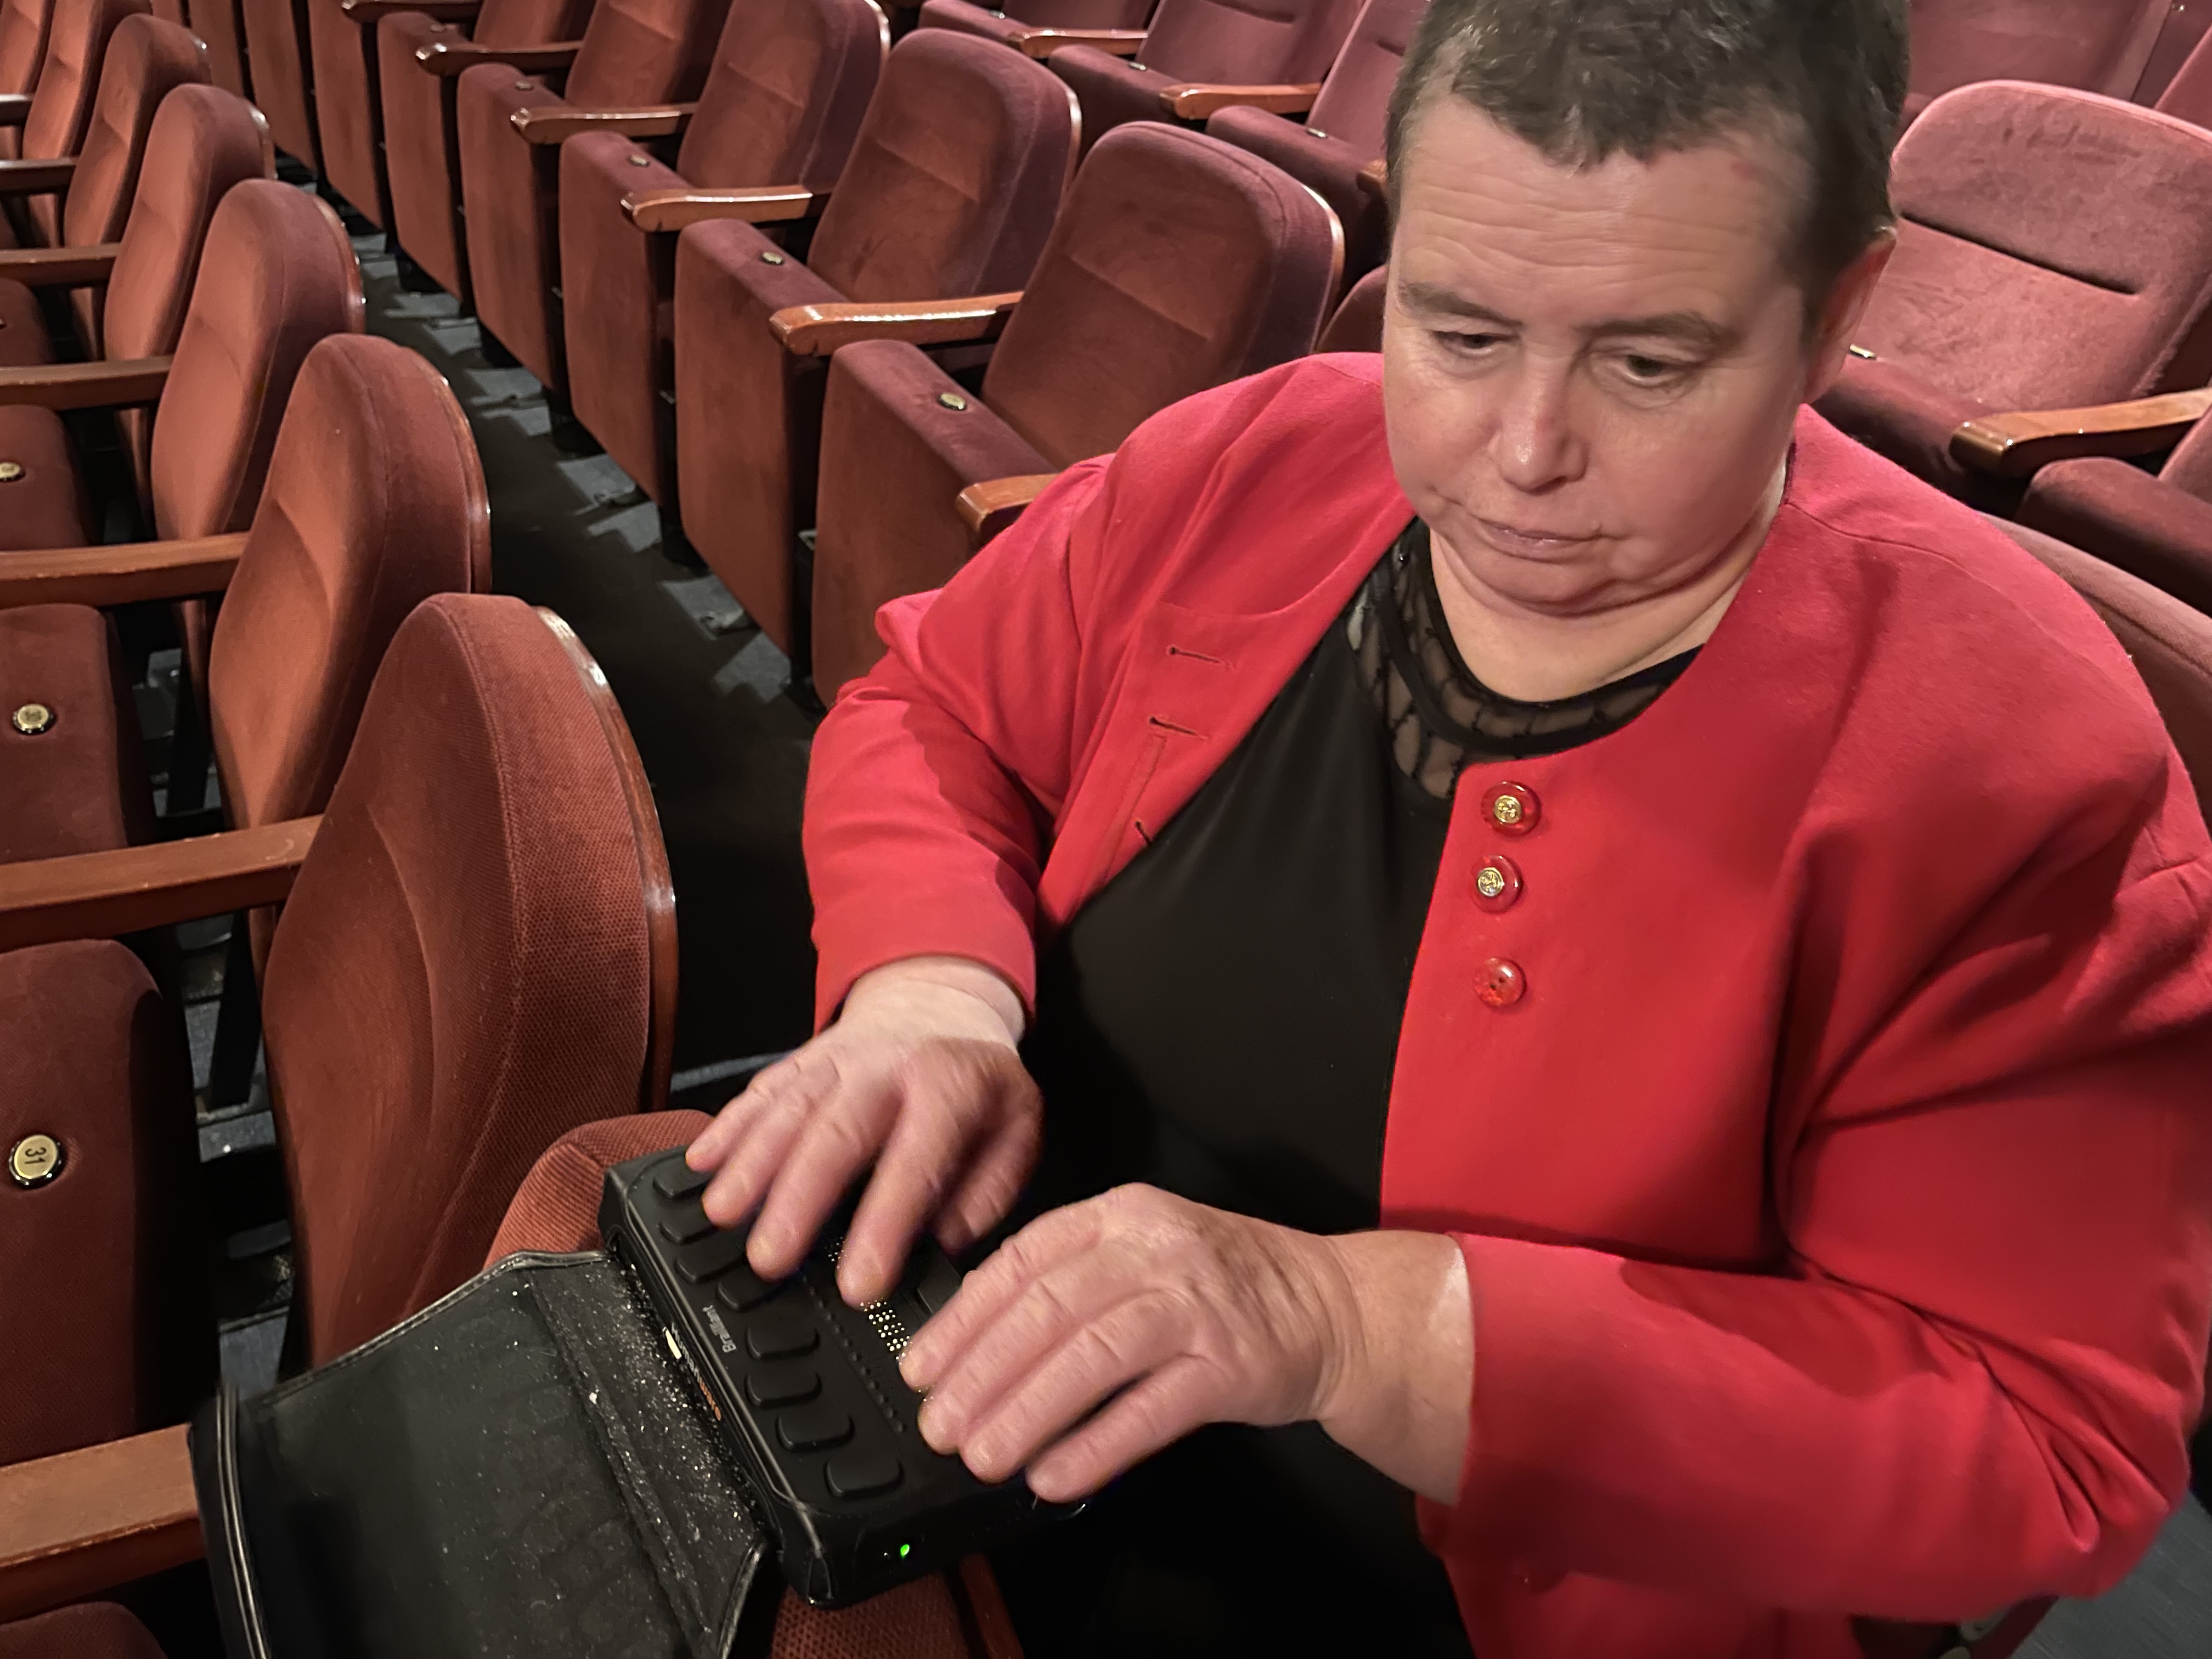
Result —
[[1037, 876], [1077, 743], [1079, 546], [1108, 460], [1071, 467], [945, 588], [876, 613], [889, 655], [814, 737], [816, 1029], [852, 982], [967, 956], [1035, 998]]

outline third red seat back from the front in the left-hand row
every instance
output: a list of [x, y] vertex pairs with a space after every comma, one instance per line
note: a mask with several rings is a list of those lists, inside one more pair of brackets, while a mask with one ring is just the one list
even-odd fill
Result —
[[299, 365], [325, 334], [361, 325], [361, 265], [338, 215], [290, 184], [234, 186], [208, 226], [153, 420], [157, 535], [252, 524]]

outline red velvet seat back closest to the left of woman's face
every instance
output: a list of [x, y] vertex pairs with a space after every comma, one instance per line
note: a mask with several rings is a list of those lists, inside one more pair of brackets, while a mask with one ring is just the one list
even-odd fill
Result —
[[1303, 356], [1343, 239], [1254, 155], [1155, 122], [1093, 146], [991, 356], [984, 403], [1055, 467], [1146, 416]]

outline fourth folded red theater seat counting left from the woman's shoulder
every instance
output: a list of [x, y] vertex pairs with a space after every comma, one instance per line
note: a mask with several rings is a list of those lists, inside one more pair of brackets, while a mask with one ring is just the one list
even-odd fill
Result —
[[568, 378], [555, 292], [560, 142], [588, 111], [697, 97], [726, 11], [728, 0], [599, 0], [560, 93], [502, 62], [460, 77], [453, 124], [476, 316], [555, 392]]

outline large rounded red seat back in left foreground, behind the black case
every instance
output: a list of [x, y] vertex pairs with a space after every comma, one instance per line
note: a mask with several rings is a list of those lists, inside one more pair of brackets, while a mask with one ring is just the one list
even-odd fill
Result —
[[666, 856], [586, 672], [520, 599], [440, 595], [369, 690], [261, 991], [310, 1363], [469, 1279], [535, 1157], [639, 1104]]

